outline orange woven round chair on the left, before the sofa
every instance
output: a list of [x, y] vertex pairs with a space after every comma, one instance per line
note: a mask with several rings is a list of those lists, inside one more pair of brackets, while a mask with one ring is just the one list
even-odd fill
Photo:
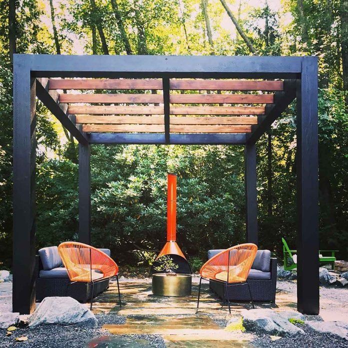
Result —
[[58, 252], [71, 282], [91, 283], [90, 309], [92, 309], [94, 283], [113, 275], [116, 275], [118, 300], [121, 306], [118, 266], [111, 257], [93, 246], [74, 241], [59, 244]]

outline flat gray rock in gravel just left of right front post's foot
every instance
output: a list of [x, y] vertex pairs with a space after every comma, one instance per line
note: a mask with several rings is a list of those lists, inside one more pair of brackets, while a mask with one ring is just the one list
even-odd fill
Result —
[[279, 336], [298, 336], [304, 331], [293, 325], [289, 319], [303, 320], [304, 316], [295, 311], [276, 312], [273, 309], [242, 310], [243, 325], [252, 331], [261, 331]]

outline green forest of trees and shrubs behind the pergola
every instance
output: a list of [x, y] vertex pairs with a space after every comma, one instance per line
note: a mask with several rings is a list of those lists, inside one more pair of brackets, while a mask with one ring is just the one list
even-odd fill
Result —
[[[12, 55], [316, 55], [320, 248], [348, 257], [348, 0], [0, 0], [0, 261], [11, 266]], [[77, 143], [37, 103], [36, 248], [76, 239]], [[295, 247], [295, 102], [258, 141], [259, 247]], [[150, 262], [178, 174], [178, 243], [193, 268], [245, 240], [243, 148], [92, 146], [92, 244]]]

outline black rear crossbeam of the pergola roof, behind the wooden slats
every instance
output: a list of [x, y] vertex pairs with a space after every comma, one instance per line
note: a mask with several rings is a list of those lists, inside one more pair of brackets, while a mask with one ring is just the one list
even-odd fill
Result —
[[[90, 144], [166, 144], [164, 133], [88, 133]], [[188, 133], [170, 134], [170, 144], [245, 144], [245, 133]]]

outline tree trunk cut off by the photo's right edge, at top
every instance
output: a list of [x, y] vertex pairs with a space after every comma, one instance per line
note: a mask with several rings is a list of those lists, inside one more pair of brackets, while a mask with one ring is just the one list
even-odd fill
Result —
[[348, 0], [341, 0], [339, 12], [343, 90], [347, 92], [345, 94], [345, 108], [348, 111]]

